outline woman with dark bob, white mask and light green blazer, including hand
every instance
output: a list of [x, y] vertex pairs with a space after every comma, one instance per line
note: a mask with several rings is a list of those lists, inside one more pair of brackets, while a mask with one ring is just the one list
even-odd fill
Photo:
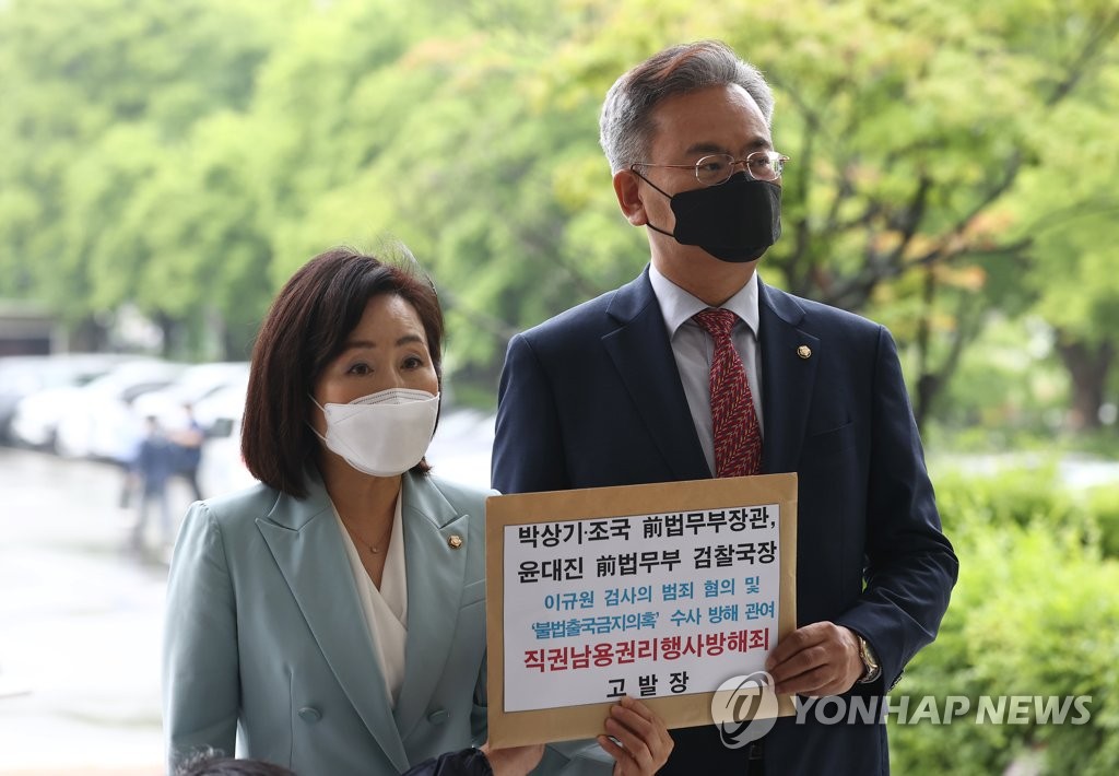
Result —
[[[261, 484], [191, 505], [171, 562], [172, 770], [239, 740], [299, 774], [395, 775], [485, 739], [488, 494], [425, 460], [442, 343], [431, 281], [373, 256], [328, 251], [280, 291], [242, 431]], [[638, 701], [605, 732], [620, 773], [671, 747]]]

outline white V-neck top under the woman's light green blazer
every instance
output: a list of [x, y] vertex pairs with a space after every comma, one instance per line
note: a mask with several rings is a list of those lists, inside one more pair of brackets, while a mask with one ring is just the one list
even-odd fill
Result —
[[357, 586], [361, 615], [369, 629], [380, 675], [385, 677], [385, 690], [394, 709], [396, 699], [401, 694], [401, 685], [404, 684], [404, 647], [408, 637], [408, 590], [404, 561], [404, 525], [401, 520], [402, 496], [403, 494], [396, 497], [392, 539], [388, 540], [388, 551], [385, 553], [379, 590], [369, 579], [369, 572], [361, 564], [357, 545], [354, 544], [338, 509], [335, 508], [335, 520], [338, 521], [338, 530], [342, 532], [346, 557]]

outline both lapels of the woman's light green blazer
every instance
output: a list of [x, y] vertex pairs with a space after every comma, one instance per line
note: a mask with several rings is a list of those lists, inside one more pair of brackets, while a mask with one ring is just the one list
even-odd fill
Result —
[[[448, 623], [454, 623], [466, 576], [466, 552], [448, 541], [467, 537], [467, 521], [432, 482], [404, 475], [401, 516], [408, 586], [408, 635], [405, 675], [396, 710], [389, 705], [385, 679], [346, 558], [342, 536], [326, 487], [310, 478], [307, 498], [281, 495], [256, 523], [291, 589], [311, 633], [342, 691], [369, 732], [401, 772], [408, 768], [403, 738], [415, 727], [434, 692], [451, 648]], [[403, 735], [402, 735], [403, 733]]]

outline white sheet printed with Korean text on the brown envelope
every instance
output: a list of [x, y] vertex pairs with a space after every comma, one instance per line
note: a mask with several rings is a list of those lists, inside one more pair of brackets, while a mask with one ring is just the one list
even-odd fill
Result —
[[505, 529], [505, 709], [714, 692], [777, 644], [778, 504]]

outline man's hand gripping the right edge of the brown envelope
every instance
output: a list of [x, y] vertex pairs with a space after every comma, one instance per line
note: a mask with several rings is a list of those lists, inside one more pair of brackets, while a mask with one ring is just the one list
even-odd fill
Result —
[[863, 675], [858, 637], [835, 623], [812, 623], [781, 639], [765, 661], [777, 692], [809, 696], [838, 695]]

